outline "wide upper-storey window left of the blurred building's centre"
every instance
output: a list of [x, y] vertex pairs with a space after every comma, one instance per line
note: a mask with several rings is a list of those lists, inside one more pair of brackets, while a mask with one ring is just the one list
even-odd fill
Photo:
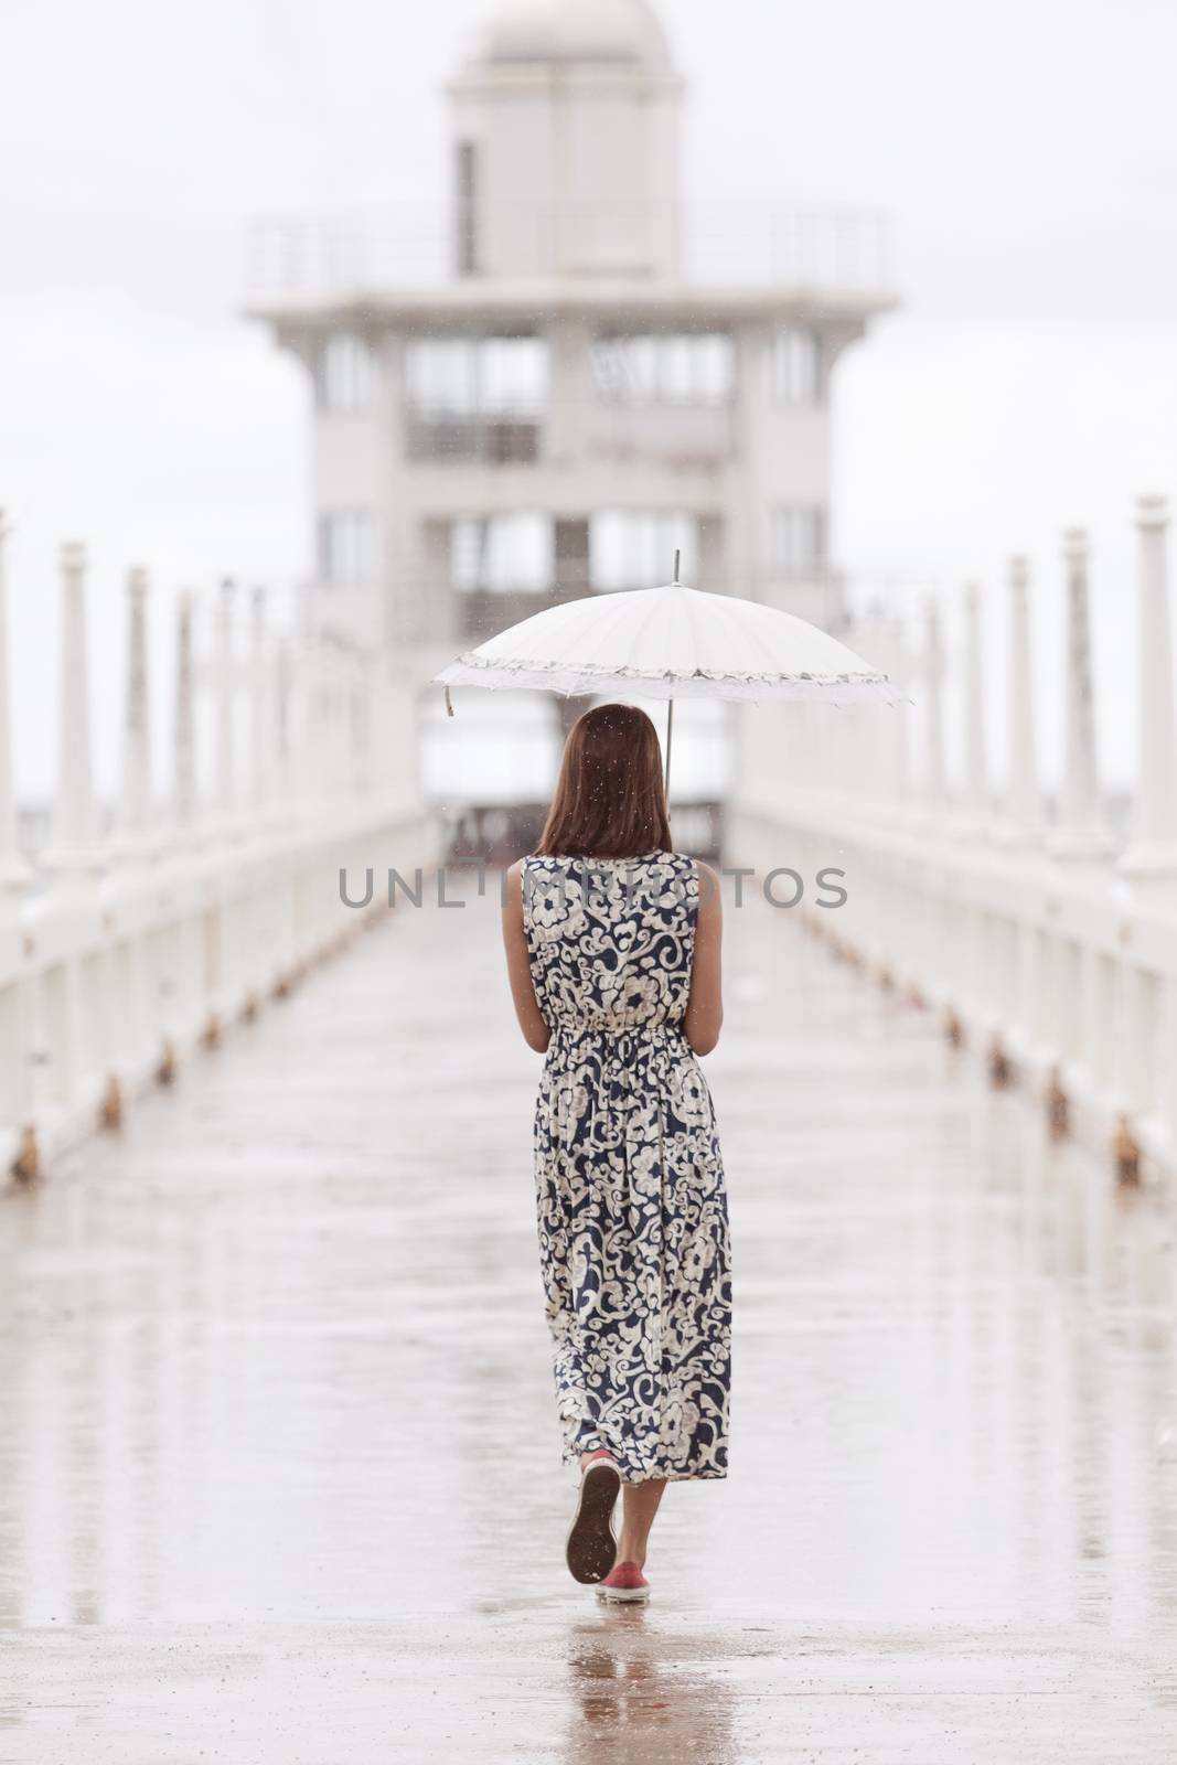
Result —
[[404, 349], [409, 409], [431, 420], [528, 418], [547, 404], [542, 337], [415, 337]]

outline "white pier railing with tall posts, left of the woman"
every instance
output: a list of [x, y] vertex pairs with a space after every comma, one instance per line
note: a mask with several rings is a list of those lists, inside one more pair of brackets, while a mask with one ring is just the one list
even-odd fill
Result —
[[[171, 787], [157, 805], [141, 570], [129, 577], [122, 791], [99, 835], [85, 568], [81, 547], [64, 547], [60, 782], [30, 863], [12, 801], [0, 522], [0, 1175], [18, 1179], [116, 1126], [143, 1089], [175, 1084], [196, 1050], [284, 997], [386, 905], [374, 891], [365, 909], [344, 907], [341, 868], [383, 875], [434, 856], [406, 761], [409, 688], [372, 655], [268, 630], [259, 591], [242, 650], [231, 584], [203, 657], [199, 607], [178, 602]], [[214, 701], [210, 792], [198, 787], [201, 692]]]

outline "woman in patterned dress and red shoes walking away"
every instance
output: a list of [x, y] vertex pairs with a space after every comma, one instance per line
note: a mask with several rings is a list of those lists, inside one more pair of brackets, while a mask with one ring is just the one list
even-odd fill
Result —
[[727, 1476], [727, 1193], [695, 1059], [723, 1018], [720, 930], [715, 872], [671, 849], [655, 725], [586, 711], [538, 852], [508, 872], [503, 935], [519, 1027], [547, 1054], [540, 1262], [581, 1465], [566, 1560], [605, 1599], [649, 1597], [667, 1483]]

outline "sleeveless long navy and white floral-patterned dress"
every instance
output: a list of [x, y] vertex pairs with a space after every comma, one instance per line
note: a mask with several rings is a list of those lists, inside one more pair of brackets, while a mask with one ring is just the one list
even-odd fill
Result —
[[731, 1273], [711, 1093], [683, 1036], [699, 872], [683, 852], [528, 858], [551, 1043], [535, 1112], [563, 1460], [727, 1476]]

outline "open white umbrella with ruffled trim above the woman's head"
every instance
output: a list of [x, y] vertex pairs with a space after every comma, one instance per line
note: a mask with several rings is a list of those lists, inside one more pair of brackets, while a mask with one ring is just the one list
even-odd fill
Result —
[[667, 789], [676, 699], [824, 699], [849, 704], [903, 694], [817, 625], [734, 595], [678, 581], [588, 595], [547, 607], [489, 637], [434, 676], [445, 687], [588, 694], [628, 690], [667, 699]]

